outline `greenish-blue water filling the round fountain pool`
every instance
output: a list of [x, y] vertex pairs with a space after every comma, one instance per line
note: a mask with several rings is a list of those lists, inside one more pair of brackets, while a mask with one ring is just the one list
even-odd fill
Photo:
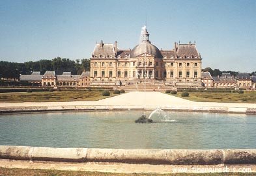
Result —
[[[146, 112], [149, 116], [151, 112]], [[256, 116], [164, 112], [156, 123], [134, 123], [143, 112], [55, 112], [0, 116], [0, 145], [124, 149], [256, 147]]]

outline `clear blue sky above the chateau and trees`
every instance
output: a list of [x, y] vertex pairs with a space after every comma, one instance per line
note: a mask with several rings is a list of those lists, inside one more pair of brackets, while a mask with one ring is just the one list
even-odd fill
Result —
[[256, 1], [0, 1], [0, 60], [90, 58], [96, 42], [196, 42], [203, 68], [256, 70]]

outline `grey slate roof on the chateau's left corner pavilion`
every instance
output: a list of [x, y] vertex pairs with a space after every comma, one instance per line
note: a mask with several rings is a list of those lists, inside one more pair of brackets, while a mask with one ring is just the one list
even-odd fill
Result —
[[115, 57], [115, 48], [113, 44], [103, 44], [101, 42], [100, 44], [96, 44], [94, 47], [94, 50], [92, 52], [92, 57], [94, 56], [104, 56], [105, 58], [108, 56]]

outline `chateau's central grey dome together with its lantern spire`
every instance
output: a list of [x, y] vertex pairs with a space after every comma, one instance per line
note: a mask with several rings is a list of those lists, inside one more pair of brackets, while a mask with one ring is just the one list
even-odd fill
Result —
[[141, 42], [139, 45], [136, 45], [130, 54], [130, 58], [135, 58], [138, 55], [142, 55], [144, 53], [149, 53], [156, 58], [163, 58], [159, 49], [152, 45], [149, 41], [149, 32], [147, 31], [147, 27], [144, 26], [141, 28]]

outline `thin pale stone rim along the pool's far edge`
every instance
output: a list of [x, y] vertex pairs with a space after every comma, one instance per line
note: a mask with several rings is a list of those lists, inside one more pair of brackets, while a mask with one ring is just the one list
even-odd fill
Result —
[[162, 108], [163, 110], [172, 111], [193, 111], [193, 112], [222, 112], [222, 113], [242, 113], [256, 114], [256, 108], [246, 107], [143, 107], [143, 106], [102, 106], [102, 105], [77, 105], [77, 106], [31, 106], [31, 107], [0, 107], [0, 114], [13, 112], [53, 112], [53, 111], [70, 111], [70, 110], [154, 110]]

